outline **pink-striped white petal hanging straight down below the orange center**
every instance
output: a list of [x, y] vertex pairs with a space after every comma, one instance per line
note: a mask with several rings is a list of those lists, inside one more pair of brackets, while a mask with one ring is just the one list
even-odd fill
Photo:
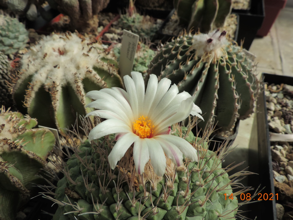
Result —
[[144, 172], [144, 166], [149, 161], [149, 148], [145, 139], [139, 138], [134, 141], [133, 160], [135, 170], [138, 174], [142, 174]]

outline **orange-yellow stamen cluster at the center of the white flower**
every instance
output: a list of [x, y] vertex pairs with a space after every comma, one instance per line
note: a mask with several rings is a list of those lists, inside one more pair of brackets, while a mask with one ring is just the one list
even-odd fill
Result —
[[150, 138], [154, 133], [154, 126], [151, 126], [151, 120], [147, 120], [147, 117], [140, 116], [139, 119], [133, 122], [133, 133], [140, 138]]

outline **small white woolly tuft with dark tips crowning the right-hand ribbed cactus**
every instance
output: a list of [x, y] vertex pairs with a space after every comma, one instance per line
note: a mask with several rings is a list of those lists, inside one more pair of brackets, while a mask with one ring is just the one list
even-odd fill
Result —
[[203, 56], [205, 53], [214, 53], [216, 57], [220, 57], [223, 53], [222, 48], [228, 44], [225, 33], [215, 30], [207, 34], [194, 35], [192, 47], [196, 50], [198, 56]]

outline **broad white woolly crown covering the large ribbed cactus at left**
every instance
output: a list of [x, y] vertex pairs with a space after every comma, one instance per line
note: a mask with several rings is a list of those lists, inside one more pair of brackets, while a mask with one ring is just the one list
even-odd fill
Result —
[[21, 60], [23, 74], [16, 88], [30, 75], [33, 84], [45, 84], [50, 87], [57, 84], [74, 84], [74, 73], [83, 79], [93, 66], [106, 69], [99, 62], [101, 57], [113, 59], [113, 55], [104, 52], [105, 45], [91, 43], [88, 38], [81, 39], [77, 33], [53, 34], [46, 36], [31, 50], [25, 53]]

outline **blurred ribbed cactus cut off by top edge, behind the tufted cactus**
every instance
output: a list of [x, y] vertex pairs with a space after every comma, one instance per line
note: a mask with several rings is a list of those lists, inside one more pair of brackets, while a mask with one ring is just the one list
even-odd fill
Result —
[[231, 0], [174, 0], [174, 8], [188, 31], [208, 33], [224, 25], [231, 13]]

